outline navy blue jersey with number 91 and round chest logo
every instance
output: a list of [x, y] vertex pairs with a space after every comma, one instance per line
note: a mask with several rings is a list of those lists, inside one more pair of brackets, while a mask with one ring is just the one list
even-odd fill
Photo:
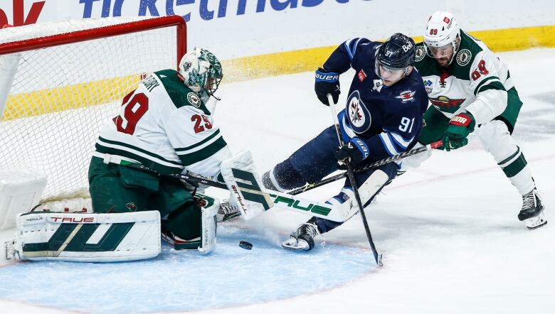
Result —
[[329, 56], [324, 69], [356, 73], [345, 109], [339, 113], [344, 140], [357, 136], [369, 146], [369, 158], [379, 160], [411, 149], [420, 135], [428, 93], [416, 70], [391, 87], [375, 72], [381, 43], [366, 38], [347, 40]]

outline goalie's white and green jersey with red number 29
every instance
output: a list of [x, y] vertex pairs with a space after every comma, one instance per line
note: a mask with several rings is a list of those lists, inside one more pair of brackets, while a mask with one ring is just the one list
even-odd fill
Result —
[[215, 177], [231, 151], [213, 124], [208, 95], [199, 94], [175, 70], [154, 72], [124, 97], [120, 114], [100, 131], [94, 156], [120, 156], [161, 173], [185, 168]]

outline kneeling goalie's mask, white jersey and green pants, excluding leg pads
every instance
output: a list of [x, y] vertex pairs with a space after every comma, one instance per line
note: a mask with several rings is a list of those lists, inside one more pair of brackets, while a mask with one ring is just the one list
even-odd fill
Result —
[[199, 247], [201, 207], [211, 197], [194, 196], [179, 180], [126, 165], [222, 180], [220, 163], [231, 151], [212, 115], [222, 77], [218, 59], [195, 49], [184, 55], [179, 72], [154, 72], [124, 97], [120, 114], [100, 131], [90, 161], [95, 212], [158, 210], [176, 249]]

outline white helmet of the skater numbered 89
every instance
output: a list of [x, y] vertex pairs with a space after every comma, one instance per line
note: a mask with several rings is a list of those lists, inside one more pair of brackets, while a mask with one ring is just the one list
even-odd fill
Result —
[[[453, 55], [457, 53], [460, 43], [460, 27], [453, 13], [437, 11], [430, 16], [424, 33], [424, 45], [426, 53], [434, 58], [430, 49], [453, 47]], [[452, 61], [453, 58], [450, 60]]]

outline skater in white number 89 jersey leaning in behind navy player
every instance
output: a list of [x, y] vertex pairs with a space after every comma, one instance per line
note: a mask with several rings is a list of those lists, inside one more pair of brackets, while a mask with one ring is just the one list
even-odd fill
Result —
[[[519, 220], [529, 229], [546, 224], [532, 171], [511, 136], [522, 102], [507, 65], [460, 30], [452, 13], [438, 11], [428, 20], [424, 42], [416, 45], [415, 67], [432, 104], [424, 114], [420, 144], [443, 139], [450, 151], [465, 146], [475, 131], [522, 195]], [[430, 154], [407, 158], [405, 164], [418, 166]]]

